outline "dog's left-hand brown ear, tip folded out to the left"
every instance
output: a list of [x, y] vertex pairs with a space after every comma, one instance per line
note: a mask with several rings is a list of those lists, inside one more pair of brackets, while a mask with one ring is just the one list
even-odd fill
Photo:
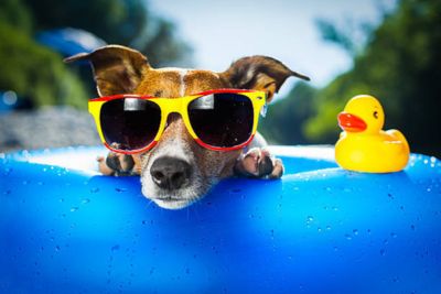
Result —
[[150, 68], [144, 55], [119, 45], [108, 45], [92, 53], [79, 53], [64, 61], [89, 61], [99, 96], [133, 92], [144, 72]]

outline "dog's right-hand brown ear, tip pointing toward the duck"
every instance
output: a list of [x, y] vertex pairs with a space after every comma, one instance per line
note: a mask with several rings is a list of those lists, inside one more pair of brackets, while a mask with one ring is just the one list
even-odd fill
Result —
[[267, 92], [271, 101], [284, 80], [290, 76], [310, 80], [309, 77], [292, 72], [281, 62], [267, 56], [250, 56], [238, 59], [220, 74], [234, 88], [255, 89]]

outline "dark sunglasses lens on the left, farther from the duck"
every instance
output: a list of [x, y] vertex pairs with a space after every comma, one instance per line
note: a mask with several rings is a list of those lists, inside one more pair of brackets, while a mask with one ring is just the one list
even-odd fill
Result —
[[149, 145], [158, 133], [161, 109], [152, 101], [123, 98], [101, 107], [100, 123], [106, 142], [118, 150], [138, 150]]

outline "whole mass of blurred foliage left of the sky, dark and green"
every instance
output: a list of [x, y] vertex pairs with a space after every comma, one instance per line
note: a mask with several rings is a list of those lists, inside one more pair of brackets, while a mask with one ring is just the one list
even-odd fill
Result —
[[0, 91], [14, 90], [35, 107], [86, 108], [96, 96], [89, 68], [65, 65], [61, 55], [34, 40], [39, 31], [67, 26], [138, 48], [153, 65], [191, 62], [191, 50], [173, 23], [149, 13], [142, 0], [2, 0]]

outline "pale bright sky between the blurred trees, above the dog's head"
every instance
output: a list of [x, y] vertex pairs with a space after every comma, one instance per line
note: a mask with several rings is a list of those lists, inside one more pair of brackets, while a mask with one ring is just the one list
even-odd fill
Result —
[[[324, 42], [318, 19], [341, 25], [367, 22], [377, 25], [381, 9], [395, 0], [149, 0], [150, 10], [171, 19], [178, 34], [194, 51], [195, 68], [223, 72], [249, 55], [267, 55], [323, 87], [352, 66], [337, 45]], [[289, 79], [281, 95], [295, 80]]]

